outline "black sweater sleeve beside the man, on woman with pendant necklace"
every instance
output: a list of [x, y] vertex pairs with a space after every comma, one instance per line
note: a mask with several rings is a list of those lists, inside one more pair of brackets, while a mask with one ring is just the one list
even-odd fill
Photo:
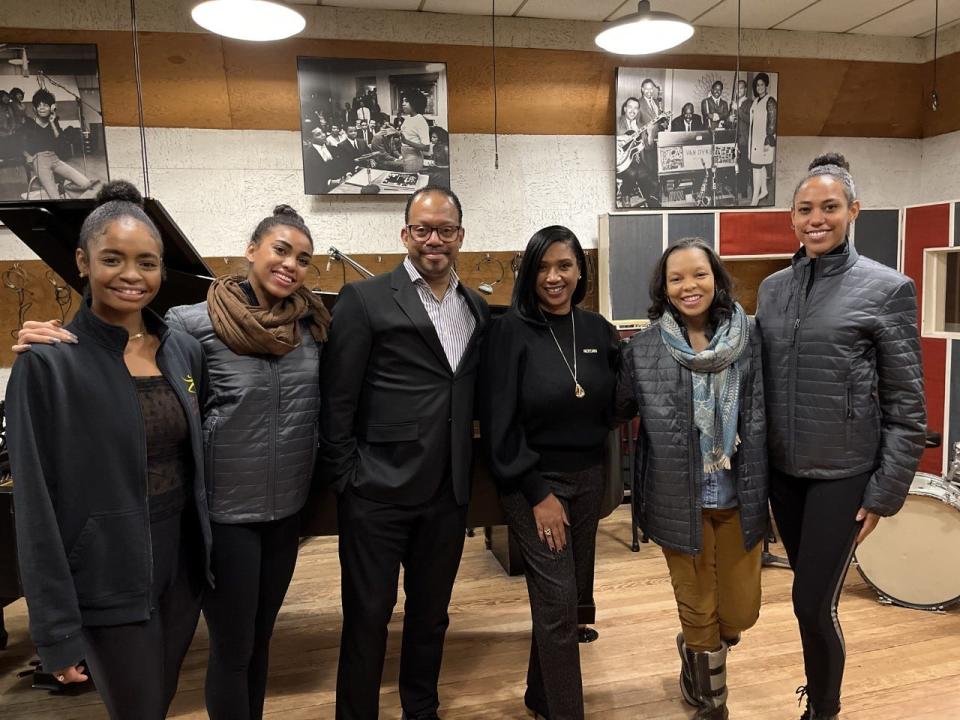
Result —
[[524, 433], [520, 386], [526, 362], [523, 321], [509, 313], [494, 321], [480, 364], [480, 424], [484, 447], [501, 494], [520, 490], [531, 506], [550, 494], [540, 475], [540, 455]]

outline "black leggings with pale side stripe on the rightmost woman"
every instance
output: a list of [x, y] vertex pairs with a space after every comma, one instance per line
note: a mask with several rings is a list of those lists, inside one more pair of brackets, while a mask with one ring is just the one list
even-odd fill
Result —
[[770, 505], [793, 568], [793, 611], [800, 625], [807, 694], [818, 713], [840, 711], [846, 648], [837, 617], [850, 567], [856, 521], [870, 473], [806, 480], [771, 471]]

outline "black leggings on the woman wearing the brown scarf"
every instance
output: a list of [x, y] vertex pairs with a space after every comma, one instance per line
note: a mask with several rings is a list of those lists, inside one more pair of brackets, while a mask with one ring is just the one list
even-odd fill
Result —
[[206, 700], [211, 720], [259, 720], [270, 637], [297, 564], [300, 519], [211, 523], [216, 588], [203, 599], [210, 632]]

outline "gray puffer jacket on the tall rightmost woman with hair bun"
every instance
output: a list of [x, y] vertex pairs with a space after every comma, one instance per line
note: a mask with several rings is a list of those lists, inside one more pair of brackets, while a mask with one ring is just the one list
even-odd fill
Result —
[[816, 263], [801, 248], [761, 283], [757, 323], [771, 466], [816, 480], [872, 472], [863, 506], [893, 515], [926, 432], [913, 281], [852, 244]]

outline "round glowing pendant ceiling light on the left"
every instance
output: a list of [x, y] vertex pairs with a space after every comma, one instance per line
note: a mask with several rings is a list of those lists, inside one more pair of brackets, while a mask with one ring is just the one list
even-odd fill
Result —
[[296, 10], [267, 0], [208, 0], [190, 12], [210, 32], [237, 40], [283, 40], [303, 30], [307, 21]]

